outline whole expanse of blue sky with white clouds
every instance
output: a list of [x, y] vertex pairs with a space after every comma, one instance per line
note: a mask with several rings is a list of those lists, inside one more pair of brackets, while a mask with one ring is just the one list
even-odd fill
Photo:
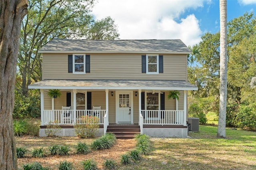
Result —
[[[255, 13], [256, 0], [228, 0], [227, 7], [230, 21]], [[98, 0], [92, 14], [113, 18], [121, 40], [181, 39], [188, 46], [220, 30], [219, 0]]]

